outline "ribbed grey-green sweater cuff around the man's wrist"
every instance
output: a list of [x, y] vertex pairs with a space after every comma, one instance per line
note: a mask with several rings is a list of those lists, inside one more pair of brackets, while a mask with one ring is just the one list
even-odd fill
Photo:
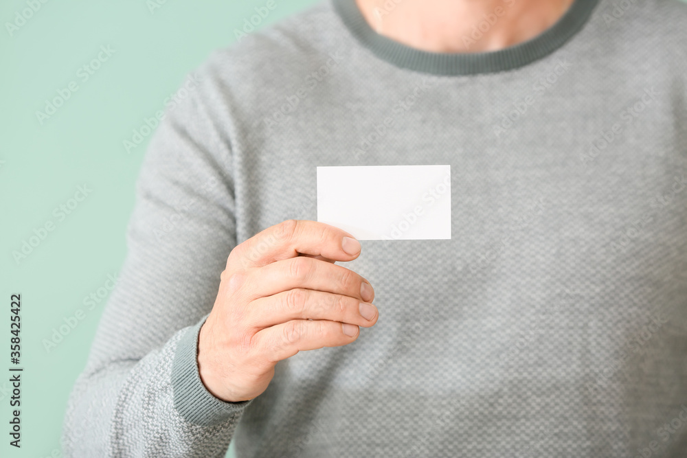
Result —
[[225, 402], [207, 391], [198, 369], [198, 336], [207, 315], [177, 342], [172, 363], [174, 408], [188, 422], [212, 426], [238, 417], [253, 400]]

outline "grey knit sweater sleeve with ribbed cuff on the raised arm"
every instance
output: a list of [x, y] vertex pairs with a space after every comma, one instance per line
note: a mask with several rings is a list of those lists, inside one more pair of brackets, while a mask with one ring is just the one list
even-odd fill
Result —
[[229, 95], [219, 71], [210, 59], [188, 76], [150, 140], [124, 265], [69, 396], [66, 456], [221, 457], [252, 402], [215, 398], [196, 359], [236, 245], [232, 151], [218, 127], [231, 124]]

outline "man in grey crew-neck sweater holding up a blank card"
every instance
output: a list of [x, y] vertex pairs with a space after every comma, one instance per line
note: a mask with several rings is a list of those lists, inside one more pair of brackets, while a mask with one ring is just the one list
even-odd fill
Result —
[[[672, 0], [327, 0], [217, 51], [65, 453], [684, 456], [685, 43]], [[450, 240], [315, 221], [317, 165], [421, 164]]]

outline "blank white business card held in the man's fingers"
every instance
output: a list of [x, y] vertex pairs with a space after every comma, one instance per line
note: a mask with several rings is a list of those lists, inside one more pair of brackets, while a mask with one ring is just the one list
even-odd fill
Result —
[[317, 168], [317, 220], [358, 240], [451, 238], [451, 165]]

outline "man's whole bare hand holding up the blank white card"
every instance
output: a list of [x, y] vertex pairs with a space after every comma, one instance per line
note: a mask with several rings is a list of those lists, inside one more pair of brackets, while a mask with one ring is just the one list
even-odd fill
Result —
[[227, 402], [260, 395], [275, 364], [301, 350], [347, 345], [379, 313], [370, 282], [336, 261], [360, 254], [352, 236], [323, 222], [287, 220], [229, 254], [199, 334], [201, 380]]

